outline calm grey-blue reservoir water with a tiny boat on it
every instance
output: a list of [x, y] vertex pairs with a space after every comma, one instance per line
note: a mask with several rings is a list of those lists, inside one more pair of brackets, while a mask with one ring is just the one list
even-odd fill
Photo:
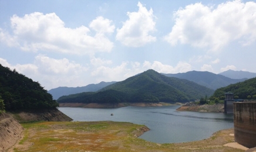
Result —
[[[132, 122], [146, 125], [141, 139], [155, 143], [181, 143], [207, 139], [214, 132], [234, 127], [233, 115], [178, 112], [179, 106], [124, 107], [114, 109], [59, 108], [74, 121]], [[110, 114], [113, 113], [113, 116]]]

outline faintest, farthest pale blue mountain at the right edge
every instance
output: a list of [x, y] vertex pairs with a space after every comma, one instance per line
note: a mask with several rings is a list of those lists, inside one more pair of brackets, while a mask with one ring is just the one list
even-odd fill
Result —
[[255, 78], [256, 73], [253, 72], [248, 72], [248, 71], [234, 71], [234, 70], [228, 70], [219, 73], [220, 75], [224, 75], [225, 77], [228, 78], [233, 78], [233, 79], [241, 79], [241, 78]]

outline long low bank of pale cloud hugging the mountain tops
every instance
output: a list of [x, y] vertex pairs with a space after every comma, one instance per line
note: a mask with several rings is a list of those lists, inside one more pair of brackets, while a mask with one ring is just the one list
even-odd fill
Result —
[[3, 58], [0, 64], [15, 68], [21, 74], [38, 81], [46, 89], [57, 87], [82, 87], [101, 81], [123, 81], [126, 78], [139, 74], [149, 69], [163, 73], [187, 72], [191, 70], [188, 63], [179, 62], [176, 67], [162, 64], [159, 61], [150, 63], [123, 62], [120, 65], [112, 65], [112, 61], [101, 58], [93, 58], [91, 65], [85, 67], [66, 58], [55, 59], [42, 54], [35, 57], [32, 64], [11, 65]]

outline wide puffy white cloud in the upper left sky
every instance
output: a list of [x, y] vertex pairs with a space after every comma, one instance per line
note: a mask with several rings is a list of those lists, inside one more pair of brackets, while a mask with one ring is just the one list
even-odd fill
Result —
[[97, 51], [111, 51], [113, 43], [105, 33], [113, 33], [114, 25], [109, 19], [99, 16], [90, 23], [96, 31], [90, 36], [90, 29], [80, 26], [76, 29], [65, 27], [55, 13], [35, 12], [23, 17], [12, 16], [12, 35], [0, 29], [0, 41], [8, 46], [21, 47], [25, 51], [59, 51], [72, 54], [93, 54]]

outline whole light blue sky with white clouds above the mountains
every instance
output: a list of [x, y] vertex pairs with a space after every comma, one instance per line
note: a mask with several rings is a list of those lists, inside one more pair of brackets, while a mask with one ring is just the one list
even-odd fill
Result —
[[0, 64], [45, 89], [256, 72], [256, 1], [0, 0]]

